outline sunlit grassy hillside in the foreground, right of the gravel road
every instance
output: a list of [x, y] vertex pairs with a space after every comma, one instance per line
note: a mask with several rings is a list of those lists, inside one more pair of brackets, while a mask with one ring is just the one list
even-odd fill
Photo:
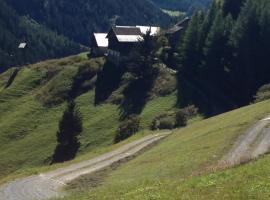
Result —
[[236, 138], [269, 112], [270, 101], [264, 101], [193, 123], [105, 176], [97, 188], [90, 183], [98, 177], [74, 181], [65, 199], [269, 199], [269, 155], [211, 170]]

